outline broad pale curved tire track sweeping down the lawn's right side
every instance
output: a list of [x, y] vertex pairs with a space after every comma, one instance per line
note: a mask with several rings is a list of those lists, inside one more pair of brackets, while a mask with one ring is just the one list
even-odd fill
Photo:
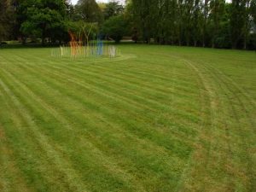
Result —
[[[187, 66], [198, 75], [199, 84], [201, 84], [201, 87], [203, 88], [203, 90], [201, 91], [201, 99], [203, 101], [201, 104], [201, 133], [198, 137], [196, 137], [196, 143], [198, 143], [198, 146], [197, 148], [195, 148], [195, 152], [192, 152], [190, 154], [189, 161], [183, 169], [183, 177], [181, 177], [181, 180], [177, 184], [177, 188], [175, 189], [175, 191], [204, 191], [204, 179], [200, 180], [200, 178], [196, 177], [205, 177], [203, 172], [205, 172], [205, 169], [207, 169], [207, 166], [209, 164], [209, 154], [211, 154], [212, 151], [212, 142], [208, 142], [207, 140], [212, 139], [210, 132], [212, 132], [212, 129], [214, 129], [215, 114], [213, 113], [213, 111], [216, 110], [217, 99], [214, 91], [212, 90], [212, 83], [207, 80], [207, 78], [204, 76], [203, 73], [201, 73], [198, 67], [195, 67], [189, 61], [185, 61], [183, 60], [183, 58], [180, 58], [178, 56], [172, 55], [172, 57], [175, 57], [186, 63]], [[207, 97], [207, 100], [205, 96]], [[207, 106], [209, 106], [209, 109]], [[207, 114], [207, 109], [209, 110], [209, 114]], [[211, 130], [205, 129], [205, 126], [210, 127]], [[190, 180], [190, 177], [188, 177], [189, 175], [191, 175], [190, 177], [196, 179], [197, 181], [200, 180], [201, 183], [193, 183]]]

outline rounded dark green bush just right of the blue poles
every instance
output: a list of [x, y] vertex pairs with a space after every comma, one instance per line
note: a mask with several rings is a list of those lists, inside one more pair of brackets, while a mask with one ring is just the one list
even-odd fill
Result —
[[113, 38], [115, 43], [119, 43], [127, 32], [127, 20], [125, 20], [125, 16], [116, 15], [110, 17], [105, 21], [102, 32], [109, 38]]

